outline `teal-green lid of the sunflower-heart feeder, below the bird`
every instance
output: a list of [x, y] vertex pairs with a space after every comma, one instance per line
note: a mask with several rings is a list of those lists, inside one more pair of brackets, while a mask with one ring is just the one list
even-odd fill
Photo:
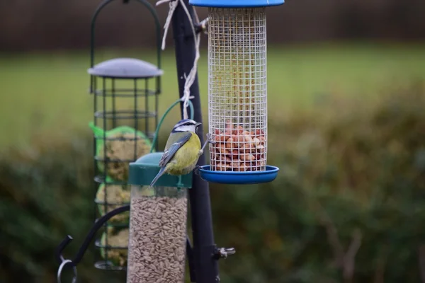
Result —
[[[158, 174], [161, 167], [159, 167], [159, 160], [164, 152], [155, 152], [146, 154], [137, 161], [130, 163], [128, 184], [130, 185], [150, 185], [152, 180]], [[179, 176], [164, 174], [155, 183], [154, 186], [158, 187], [192, 187], [192, 173], [181, 176], [181, 183], [179, 183]]]

